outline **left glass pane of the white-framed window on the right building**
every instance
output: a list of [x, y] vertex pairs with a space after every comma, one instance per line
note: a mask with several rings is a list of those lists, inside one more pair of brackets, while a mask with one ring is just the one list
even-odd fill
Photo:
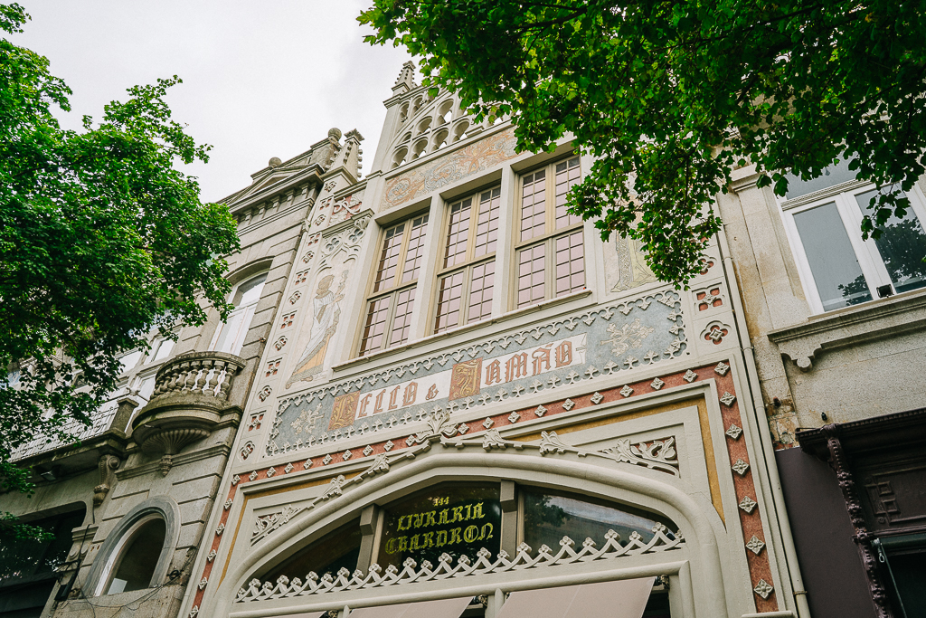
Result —
[[795, 225], [824, 311], [871, 300], [835, 202], [796, 213]]

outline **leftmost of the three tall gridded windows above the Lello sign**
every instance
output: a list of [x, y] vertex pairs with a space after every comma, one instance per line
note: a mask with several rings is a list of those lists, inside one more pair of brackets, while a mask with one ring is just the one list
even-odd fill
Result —
[[360, 339], [360, 355], [400, 346], [411, 331], [428, 215], [387, 228]]

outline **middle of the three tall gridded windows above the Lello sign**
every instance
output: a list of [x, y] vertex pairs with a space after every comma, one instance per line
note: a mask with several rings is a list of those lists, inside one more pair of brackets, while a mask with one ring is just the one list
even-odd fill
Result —
[[500, 205], [498, 187], [450, 205], [434, 333], [491, 315]]

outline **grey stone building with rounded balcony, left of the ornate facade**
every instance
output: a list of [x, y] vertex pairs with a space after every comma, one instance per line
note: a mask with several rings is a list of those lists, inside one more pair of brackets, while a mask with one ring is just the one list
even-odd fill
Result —
[[332, 131], [285, 164], [270, 159], [227, 199], [242, 219], [227, 322], [212, 310], [176, 343], [152, 334], [150, 351], [122, 359], [123, 387], [80, 446], [39, 440], [15, 454], [38, 485], [31, 497], [0, 496], [0, 508], [55, 537], [2, 548], [0, 614], [179, 614], [307, 216], [332, 175], [357, 173], [357, 142], [341, 137]]

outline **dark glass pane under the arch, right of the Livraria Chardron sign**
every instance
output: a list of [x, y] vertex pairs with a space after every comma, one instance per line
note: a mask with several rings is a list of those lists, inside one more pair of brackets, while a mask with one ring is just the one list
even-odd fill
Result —
[[563, 536], [569, 536], [576, 545], [586, 538], [602, 545], [608, 530], [620, 535], [621, 545], [626, 545], [634, 532], [648, 543], [653, 540], [653, 528], [659, 523], [669, 527], [666, 536], [673, 538], [671, 533], [678, 530], [675, 524], [665, 519], [659, 521], [656, 517], [642, 511], [524, 490], [524, 542], [534, 551], [541, 545], [558, 548]]

